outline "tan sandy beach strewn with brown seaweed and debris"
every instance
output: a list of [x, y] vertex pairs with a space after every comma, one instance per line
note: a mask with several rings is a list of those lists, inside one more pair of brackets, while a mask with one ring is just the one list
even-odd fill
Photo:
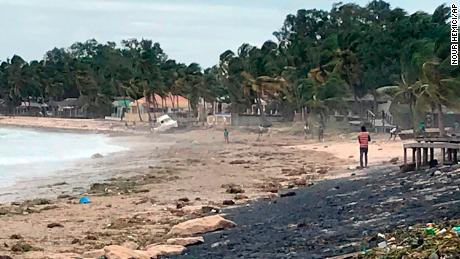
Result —
[[[59, 177], [12, 188], [4, 196], [10, 202], [0, 206], [0, 255], [13, 258], [61, 258], [56, 254], [81, 254], [126, 242], [143, 248], [164, 242], [174, 224], [202, 216], [207, 206], [227, 207], [223, 203], [228, 200], [244, 206], [276, 197], [281, 189], [361, 174], [351, 170], [358, 158], [356, 134], [317, 143], [275, 128], [257, 141], [249, 129], [230, 128], [231, 143], [225, 144], [218, 128], [159, 135], [138, 125], [137, 134], [131, 134], [134, 129], [123, 132], [122, 125], [115, 129], [112, 122], [26, 117], [2, 117], [3, 125], [112, 131], [115, 141], [130, 147], [81, 161]], [[401, 159], [401, 142], [387, 137], [375, 136], [371, 166]], [[227, 193], [223, 187], [228, 184], [241, 186], [243, 195]], [[84, 195], [90, 204], [78, 203]], [[60, 227], [50, 228], [52, 223]], [[13, 252], [18, 243], [35, 251]]]

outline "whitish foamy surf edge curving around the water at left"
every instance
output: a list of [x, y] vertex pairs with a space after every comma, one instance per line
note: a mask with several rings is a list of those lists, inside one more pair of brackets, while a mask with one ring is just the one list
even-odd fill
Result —
[[[101, 182], [114, 177], [115, 175], [112, 173], [100, 172], [101, 170], [99, 170], [99, 168], [107, 167], [104, 164], [113, 163], [119, 159], [129, 157], [129, 153], [132, 152], [135, 144], [141, 143], [141, 140], [144, 138], [142, 135], [129, 136], [128, 134], [107, 134], [89, 130], [42, 128], [36, 126], [0, 124], [0, 128], [28, 129], [36, 132], [104, 135], [109, 139], [111, 144], [125, 149], [104, 155], [104, 161], [92, 157], [85, 157], [63, 162], [46, 162], [50, 164], [59, 163], [59, 165], [57, 168], [48, 169], [45, 176], [31, 176], [27, 179], [17, 179], [14, 184], [1, 187], [0, 204], [36, 198], [56, 199], [60, 194], [76, 195], [78, 194], [78, 190], [85, 190], [94, 182]], [[28, 168], [27, 164], [18, 166], [21, 166], [21, 168], [24, 167], [23, 170], [27, 170]], [[56, 188], [56, 186], [59, 186], [59, 188]], [[46, 188], [49, 188], [49, 190], [45, 191], [44, 189]], [[77, 191], [75, 191], [75, 189], [77, 189]]]

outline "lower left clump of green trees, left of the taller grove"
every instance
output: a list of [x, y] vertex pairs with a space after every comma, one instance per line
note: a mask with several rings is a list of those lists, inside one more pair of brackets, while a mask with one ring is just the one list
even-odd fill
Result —
[[219, 93], [210, 87], [209, 71], [168, 59], [160, 44], [150, 40], [124, 40], [121, 47], [88, 40], [54, 48], [40, 61], [14, 55], [2, 62], [0, 97], [9, 107], [79, 98], [88, 111], [102, 116], [110, 114], [115, 97], [173, 94], [187, 97], [195, 110], [200, 97], [211, 101]]

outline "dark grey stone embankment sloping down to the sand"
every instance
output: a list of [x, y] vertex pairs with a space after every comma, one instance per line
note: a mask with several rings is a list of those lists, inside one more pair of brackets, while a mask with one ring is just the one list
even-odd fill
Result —
[[451, 170], [373, 169], [364, 177], [322, 181], [293, 197], [227, 210], [235, 229], [206, 235], [205, 244], [173, 258], [325, 258], [357, 252], [364, 234], [458, 218], [460, 170]]

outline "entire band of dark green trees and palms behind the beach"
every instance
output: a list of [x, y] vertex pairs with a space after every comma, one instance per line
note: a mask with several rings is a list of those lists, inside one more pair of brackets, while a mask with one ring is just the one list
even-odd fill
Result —
[[227, 50], [204, 70], [168, 59], [150, 40], [124, 40], [119, 47], [89, 40], [55, 48], [40, 61], [13, 56], [2, 62], [0, 97], [12, 106], [29, 98], [76, 97], [107, 113], [116, 96], [172, 93], [188, 98], [194, 111], [200, 98], [229, 102], [233, 114], [260, 109], [267, 98], [287, 119], [297, 111], [324, 120], [331, 110], [346, 108], [345, 97], [385, 93], [408, 104], [415, 122], [425, 110], [442, 114], [443, 106], [459, 103], [449, 18], [446, 5], [432, 14], [408, 14], [380, 0], [301, 9], [287, 15], [273, 33], [276, 40]]

